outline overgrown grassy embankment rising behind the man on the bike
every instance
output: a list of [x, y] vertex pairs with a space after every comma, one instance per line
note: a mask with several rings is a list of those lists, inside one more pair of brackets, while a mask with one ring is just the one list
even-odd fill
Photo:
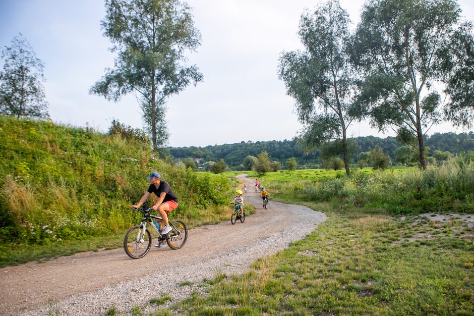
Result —
[[192, 226], [227, 217], [228, 179], [176, 168], [148, 143], [0, 117], [0, 240], [47, 244], [122, 231], [137, 222], [130, 205], [147, 189], [152, 171], [179, 198], [171, 218]]

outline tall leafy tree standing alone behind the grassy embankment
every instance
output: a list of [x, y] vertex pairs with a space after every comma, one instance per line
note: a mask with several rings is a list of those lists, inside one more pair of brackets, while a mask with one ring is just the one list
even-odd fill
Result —
[[168, 137], [166, 101], [202, 81], [196, 66], [183, 65], [185, 52], [197, 49], [201, 35], [190, 7], [179, 0], [106, 0], [105, 8], [102, 28], [117, 52], [115, 68], [106, 69], [89, 92], [113, 101], [134, 94], [157, 151]]

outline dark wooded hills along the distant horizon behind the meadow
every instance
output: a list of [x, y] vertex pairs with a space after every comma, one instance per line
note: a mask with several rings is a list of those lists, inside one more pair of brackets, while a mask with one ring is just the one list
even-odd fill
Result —
[[[403, 146], [396, 141], [395, 137], [380, 138], [375, 136], [364, 136], [350, 138], [357, 141], [357, 151], [352, 154], [353, 163], [358, 161], [361, 152], [367, 152], [376, 145], [382, 147], [383, 151], [394, 160], [395, 150]], [[435, 133], [432, 136], [425, 137], [425, 145], [430, 147], [428, 156], [434, 150], [449, 151], [452, 154], [458, 154], [461, 149], [474, 151], [474, 132], [469, 133]], [[236, 167], [243, 164], [246, 156], [257, 156], [260, 152], [266, 150], [272, 161], [278, 161], [282, 165], [290, 157], [297, 159], [299, 166], [315, 168], [321, 163], [320, 151], [317, 149], [313, 154], [304, 154], [298, 146], [297, 140], [272, 140], [272, 141], [242, 141], [234, 144], [209, 145], [206, 147], [167, 147], [169, 153], [174, 159], [185, 160], [187, 158], [200, 159], [201, 163], [223, 159], [229, 167]]]

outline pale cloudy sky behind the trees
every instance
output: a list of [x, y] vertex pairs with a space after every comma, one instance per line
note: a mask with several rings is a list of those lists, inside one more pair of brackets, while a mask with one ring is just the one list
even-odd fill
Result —
[[[240, 141], [291, 139], [301, 129], [286, 96], [277, 66], [280, 53], [301, 49], [297, 32], [305, 0], [190, 0], [202, 44], [190, 55], [204, 81], [168, 101], [168, 145], [206, 146]], [[363, 0], [341, 0], [354, 26]], [[474, 20], [470, 0], [459, 1], [462, 15]], [[44, 62], [49, 114], [57, 123], [106, 131], [112, 119], [143, 127], [133, 96], [118, 103], [89, 95], [89, 88], [113, 67], [111, 43], [103, 37], [101, 0], [0, 0], [0, 48], [20, 32]], [[3, 65], [3, 62], [2, 62]], [[449, 123], [434, 132], [462, 132]], [[369, 123], [352, 124], [349, 136], [376, 135]]]

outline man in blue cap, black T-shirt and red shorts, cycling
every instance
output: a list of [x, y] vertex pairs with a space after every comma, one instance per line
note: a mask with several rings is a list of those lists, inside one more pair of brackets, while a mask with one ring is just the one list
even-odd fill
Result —
[[[150, 182], [150, 186], [146, 190], [145, 194], [143, 194], [140, 201], [137, 204], [132, 205], [132, 208], [139, 208], [143, 203], [145, 203], [146, 199], [151, 193], [155, 193], [155, 195], [158, 197], [158, 200], [151, 208], [158, 210], [158, 214], [163, 219], [165, 225], [161, 231], [161, 235], [166, 235], [171, 231], [171, 227], [169, 226], [168, 222], [168, 213], [177, 207], [177, 197], [169, 187], [169, 184], [161, 181], [161, 176], [159, 173], [152, 172], [147, 178]], [[159, 224], [160, 226], [162, 225], [161, 222]], [[155, 247], [159, 247], [159, 245], [156, 244]]]

